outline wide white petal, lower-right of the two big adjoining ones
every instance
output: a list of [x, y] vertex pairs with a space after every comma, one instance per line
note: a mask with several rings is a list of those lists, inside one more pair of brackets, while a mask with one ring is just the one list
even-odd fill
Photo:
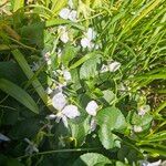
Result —
[[80, 112], [77, 111], [77, 106], [72, 105], [72, 104], [71, 105], [66, 105], [62, 110], [62, 114], [64, 114], [69, 118], [75, 118], [75, 117], [80, 116]]

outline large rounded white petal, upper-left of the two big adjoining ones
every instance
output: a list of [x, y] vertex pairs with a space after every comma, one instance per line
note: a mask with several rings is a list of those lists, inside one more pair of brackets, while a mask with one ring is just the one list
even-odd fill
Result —
[[66, 98], [65, 98], [64, 94], [62, 92], [55, 94], [52, 97], [52, 104], [53, 104], [54, 108], [56, 108], [58, 111], [61, 111], [66, 104]]

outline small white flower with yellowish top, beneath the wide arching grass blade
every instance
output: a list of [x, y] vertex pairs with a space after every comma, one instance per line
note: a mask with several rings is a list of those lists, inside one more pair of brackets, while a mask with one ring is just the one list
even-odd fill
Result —
[[60, 25], [59, 29], [58, 29], [58, 33], [60, 35], [60, 40], [63, 43], [68, 43], [68, 41], [70, 40], [70, 38], [69, 38], [69, 34], [68, 34], [66, 28], [63, 27], [63, 25]]

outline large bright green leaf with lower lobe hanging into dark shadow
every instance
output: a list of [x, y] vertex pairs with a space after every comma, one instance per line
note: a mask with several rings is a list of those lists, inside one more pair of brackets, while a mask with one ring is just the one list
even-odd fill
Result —
[[106, 149], [120, 147], [120, 137], [113, 132], [123, 133], [126, 128], [126, 121], [121, 111], [114, 106], [98, 111], [97, 124], [100, 125], [98, 136]]

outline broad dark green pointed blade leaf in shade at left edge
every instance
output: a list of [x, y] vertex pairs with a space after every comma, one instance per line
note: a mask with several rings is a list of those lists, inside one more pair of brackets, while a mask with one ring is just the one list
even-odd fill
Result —
[[39, 107], [33, 101], [33, 98], [14, 83], [6, 79], [0, 79], [0, 90], [14, 97], [17, 101], [19, 101], [32, 112], [37, 114], [39, 113]]

